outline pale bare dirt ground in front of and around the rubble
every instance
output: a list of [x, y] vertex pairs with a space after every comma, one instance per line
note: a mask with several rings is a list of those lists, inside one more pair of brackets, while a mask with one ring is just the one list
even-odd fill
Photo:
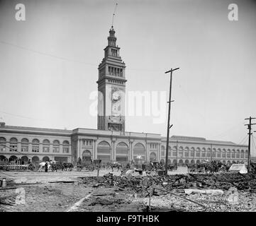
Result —
[[[99, 174], [101, 183], [84, 180], [96, 178], [97, 172], [6, 172], [7, 190], [0, 190], [0, 211], [7, 212], [142, 212], [149, 206], [148, 187], [135, 191], [132, 187], [104, 183], [108, 170]], [[118, 176], [120, 172], [113, 172]], [[3, 174], [1, 174], [1, 178]], [[102, 183], [103, 182], [103, 183]], [[18, 192], [17, 192], [18, 189]], [[19, 192], [24, 191], [24, 202], [17, 202]], [[162, 191], [150, 199], [152, 211], [256, 211], [255, 193], [238, 191], [238, 203], [230, 204], [229, 191], [221, 195], [184, 194], [184, 189]], [[187, 201], [184, 198], [188, 198]], [[19, 200], [19, 199], [18, 199]], [[192, 203], [195, 201], [202, 206]]]

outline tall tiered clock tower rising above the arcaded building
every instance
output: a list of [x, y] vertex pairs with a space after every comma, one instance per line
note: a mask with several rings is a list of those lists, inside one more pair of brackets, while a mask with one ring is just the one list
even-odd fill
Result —
[[126, 64], [119, 50], [111, 26], [105, 56], [98, 68], [98, 129], [101, 130], [125, 131]]

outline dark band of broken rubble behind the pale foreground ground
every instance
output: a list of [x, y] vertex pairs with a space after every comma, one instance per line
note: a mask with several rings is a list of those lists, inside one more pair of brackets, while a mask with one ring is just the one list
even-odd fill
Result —
[[153, 184], [171, 191], [173, 189], [222, 189], [227, 191], [230, 187], [238, 190], [256, 191], [256, 174], [187, 174], [187, 175], [147, 175], [136, 176], [113, 176], [111, 173], [104, 177], [84, 177], [84, 184], [93, 184], [94, 187], [118, 186], [120, 190], [130, 188], [139, 193], [145, 191]]

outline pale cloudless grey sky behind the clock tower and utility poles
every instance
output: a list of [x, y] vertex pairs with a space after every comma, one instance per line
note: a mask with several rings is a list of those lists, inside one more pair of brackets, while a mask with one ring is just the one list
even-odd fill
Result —
[[[165, 120], [126, 116], [126, 131], [247, 142], [256, 117], [256, 2], [247, 0], [0, 0], [0, 121], [96, 129], [90, 114], [114, 7], [126, 92], [166, 93]], [[16, 20], [16, 4], [26, 20]], [[238, 20], [228, 20], [237, 4]], [[256, 122], [256, 120], [255, 120]], [[254, 127], [256, 131], [256, 126]], [[256, 135], [255, 135], [256, 136]]]

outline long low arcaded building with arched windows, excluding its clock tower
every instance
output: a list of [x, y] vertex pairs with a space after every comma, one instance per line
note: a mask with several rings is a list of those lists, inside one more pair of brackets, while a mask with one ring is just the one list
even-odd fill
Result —
[[[0, 125], [0, 159], [21, 158], [28, 162], [59, 160], [75, 163], [101, 159], [128, 162], [141, 155], [146, 161], [165, 161], [166, 138], [152, 133], [119, 133], [96, 129], [40, 129]], [[10, 148], [8, 148], [10, 147]], [[16, 151], [15, 151], [16, 150]], [[178, 150], [178, 152], [177, 152]], [[205, 138], [172, 136], [170, 163], [196, 163], [202, 160], [246, 162], [247, 146]]]

